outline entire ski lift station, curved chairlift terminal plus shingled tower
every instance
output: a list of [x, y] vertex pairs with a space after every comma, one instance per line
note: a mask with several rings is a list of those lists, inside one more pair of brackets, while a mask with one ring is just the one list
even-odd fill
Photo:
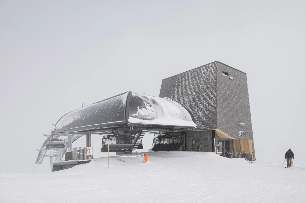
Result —
[[[255, 160], [246, 73], [215, 61], [163, 79], [159, 97], [125, 92], [69, 112], [45, 135], [36, 164], [48, 157], [55, 171], [90, 161], [91, 133], [103, 136], [102, 152], [130, 153], [145, 132], [155, 133], [152, 151]], [[83, 135], [86, 147], [72, 148]]]

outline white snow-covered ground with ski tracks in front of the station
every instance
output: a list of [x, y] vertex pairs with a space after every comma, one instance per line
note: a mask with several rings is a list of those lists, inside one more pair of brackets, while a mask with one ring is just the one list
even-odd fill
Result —
[[[0, 202], [304, 202], [305, 163], [250, 164], [212, 152], [108, 157], [53, 173], [0, 174]], [[132, 154], [134, 155], [134, 154]], [[130, 155], [127, 155], [130, 156]], [[283, 160], [284, 161], [284, 160]]]

